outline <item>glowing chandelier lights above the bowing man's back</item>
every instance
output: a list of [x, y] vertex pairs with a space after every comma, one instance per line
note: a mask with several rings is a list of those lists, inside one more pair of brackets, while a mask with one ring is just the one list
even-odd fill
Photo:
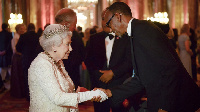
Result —
[[167, 12], [158, 12], [154, 14], [154, 17], [147, 17], [147, 20], [156, 21], [162, 24], [167, 24], [169, 22]]

